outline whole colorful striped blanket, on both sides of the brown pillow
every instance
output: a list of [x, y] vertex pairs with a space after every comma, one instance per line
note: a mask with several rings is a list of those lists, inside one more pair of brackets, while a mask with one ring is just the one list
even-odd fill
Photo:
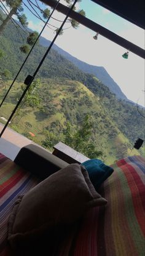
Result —
[[[112, 164], [99, 193], [107, 206], [90, 209], [48, 256], [144, 256], [145, 163], [140, 156]], [[8, 256], [7, 220], [15, 199], [39, 181], [0, 154], [0, 256]], [[47, 255], [47, 254], [45, 254]]]

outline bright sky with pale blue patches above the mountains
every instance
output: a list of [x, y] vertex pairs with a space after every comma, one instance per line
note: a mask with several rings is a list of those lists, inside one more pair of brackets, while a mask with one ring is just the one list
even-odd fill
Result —
[[[26, 2], [26, 0], [23, 1]], [[31, 1], [36, 4], [34, 0]], [[64, 0], [60, 2], [66, 4]], [[41, 2], [39, 4], [43, 9], [47, 8]], [[91, 0], [82, 0], [76, 4], [76, 7], [78, 10], [84, 9], [87, 18], [92, 19], [94, 22], [144, 49], [145, 36], [143, 29], [95, 4]], [[52, 11], [52, 9], [50, 10]], [[28, 9], [24, 8], [24, 11], [28, 17], [28, 27], [40, 32], [44, 23], [34, 17]], [[55, 11], [53, 17], [63, 20], [64, 15]], [[49, 23], [53, 26], [61, 25], [61, 22], [56, 22], [52, 18]], [[55, 32], [51, 29], [53, 26], [46, 28], [44, 33], [42, 33], [42, 36], [50, 41], [55, 36]], [[109, 41], [100, 34], [98, 35], [98, 40], [93, 39], [96, 33], [82, 25], [79, 25], [77, 30], [74, 28], [67, 29], [69, 26], [69, 23], [65, 24], [64, 28], [66, 29], [62, 36], [58, 36], [55, 44], [79, 60], [91, 65], [103, 66], [128, 99], [144, 106], [145, 63], [143, 58], [129, 52], [128, 59], [124, 59], [122, 54], [127, 52], [128, 49], [124, 49]]]

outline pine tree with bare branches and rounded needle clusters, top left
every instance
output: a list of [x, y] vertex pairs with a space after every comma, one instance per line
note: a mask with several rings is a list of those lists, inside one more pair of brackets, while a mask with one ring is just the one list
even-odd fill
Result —
[[[65, 1], [68, 4], [68, 6], [71, 7], [71, 4], [72, 4], [73, 0], [65, 0]], [[81, 0], [78, 0], [78, 1], [81, 1]], [[2, 2], [4, 2], [6, 4], [6, 6], [10, 8], [9, 14], [7, 14], [7, 12], [8, 12], [7, 8], [6, 8], [6, 6], [4, 6], [4, 4]], [[5, 12], [5, 14], [7, 14], [7, 17], [5, 19], [2, 17], [2, 15], [0, 17], [0, 20], [2, 21], [2, 24], [0, 26], [0, 35], [2, 34], [2, 31], [7, 26], [7, 24], [9, 23], [9, 20], [12, 20], [12, 23], [14, 23], [14, 25], [17, 28], [18, 31], [19, 31], [18, 26], [23, 31], [26, 30], [26, 26], [28, 26], [28, 22], [27, 22], [26, 15], [22, 13], [23, 12], [23, 6], [28, 8], [29, 11], [31, 12], [31, 14], [33, 14], [35, 17], [39, 18], [39, 20], [42, 20], [42, 22], [44, 22], [44, 23], [45, 23], [45, 20], [47, 20], [50, 16], [50, 10], [48, 8], [44, 9], [44, 10], [41, 9], [39, 4], [37, 3], [37, 0], [35, 1], [35, 3], [34, 3], [33, 0], [32, 1], [28, 0], [26, 2], [23, 2], [22, 0], [3, 0], [3, 1], [1, 1], [1, 4], [4, 7], [4, 12], [5, 12], [5, 9], [7, 11], [7, 12]], [[28, 7], [28, 6], [30, 6], [30, 7]], [[34, 9], [34, 7], [36, 7], [36, 9]], [[42, 14], [42, 17], [37, 12], [37, 9], [39, 9], [38, 12], [40, 12]], [[33, 12], [33, 10], [34, 10], [34, 12]], [[76, 7], [74, 7], [74, 10], [76, 10]], [[85, 15], [84, 10], [79, 10], [78, 13], [81, 14], [81, 15]], [[12, 18], [13, 15], [17, 15], [17, 18], [18, 18], [19, 22], [22, 24], [22, 27], [17, 22], [15, 22], [15, 20]], [[54, 17], [52, 17], [52, 18], [54, 20], [57, 20]], [[58, 20], [58, 21], [60, 21], [60, 20]], [[78, 26], [79, 26], [79, 22], [76, 22], [76, 20], [73, 20], [71, 18], [68, 18], [68, 22], [71, 23], [71, 26], [73, 28], [78, 28]], [[50, 24], [48, 23], [47, 25], [49, 26]], [[55, 26], [53, 26], [53, 27], [55, 27]], [[55, 33], [57, 33], [58, 28], [55, 27], [54, 31], [55, 31]], [[20, 31], [19, 31], [19, 33], [20, 33]], [[63, 34], [63, 29], [60, 31], [59, 34], [60, 35]], [[33, 46], [34, 42], [36, 41], [36, 39], [38, 37], [38, 33], [36, 31], [34, 31], [33, 33], [29, 33], [29, 35], [26, 38], [26, 43], [27, 44], [24, 44], [24, 38], [23, 38], [22, 33], [20, 33], [20, 35], [22, 36], [22, 39], [23, 39], [23, 45], [20, 47], [20, 50], [24, 54], [28, 54], [28, 52], [29, 52], [28, 44], [30, 46]]]

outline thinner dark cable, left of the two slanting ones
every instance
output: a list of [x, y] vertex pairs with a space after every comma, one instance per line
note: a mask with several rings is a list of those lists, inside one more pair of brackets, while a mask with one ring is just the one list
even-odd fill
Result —
[[[1, 0], [0, 0], [0, 1], [1, 1]], [[60, 0], [58, 0], [57, 4], [55, 5], [54, 9], [52, 10], [52, 13], [50, 14], [49, 18], [47, 19], [47, 22], [49, 22], [50, 17], [52, 16], [53, 12], [54, 12], [55, 9], [57, 8], [59, 2], [60, 2]], [[6, 99], [7, 94], [9, 94], [9, 91], [10, 91], [10, 89], [12, 88], [12, 86], [13, 86], [15, 80], [17, 79], [18, 75], [20, 74], [20, 71], [22, 70], [23, 66], [25, 65], [26, 60], [28, 59], [28, 57], [29, 57], [29, 55], [31, 54], [31, 52], [32, 52], [32, 50], [33, 50], [33, 48], [34, 48], [34, 46], [36, 45], [36, 42], [38, 41], [38, 39], [40, 38], [42, 32], [44, 31], [45, 26], [47, 25], [47, 22], [45, 23], [44, 27], [43, 27], [42, 30], [41, 30], [41, 33], [40, 33], [39, 36], [37, 37], [37, 39], [36, 39], [36, 41], [34, 42], [33, 46], [31, 47], [31, 50], [29, 51], [28, 55], [26, 56], [25, 61], [23, 62], [23, 64], [22, 64], [20, 70], [18, 71], [17, 75], [15, 76], [14, 81], [12, 82], [11, 86], [9, 87], [9, 90], [7, 90], [7, 93], [6, 93], [6, 95], [4, 96], [4, 98], [3, 98], [3, 100], [2, 100], [2, 102], [1, 102], [1, 104], [0, 104], [0, 108], [1, 108], [1, 106], [2, 106], [2, 104], [3, 104], [3, 102], [4, 102], [4, 100]]]

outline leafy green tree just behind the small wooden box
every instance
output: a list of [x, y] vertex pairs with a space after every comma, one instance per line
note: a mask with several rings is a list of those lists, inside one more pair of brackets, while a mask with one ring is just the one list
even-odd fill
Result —
[[71, 146], [74, 150], [79, 151], [88, 158], [98, 158], [102, 156], [102, 151], [96, 149], [96, 143], [92, 141], [92, 121], [87, 114], [82, 121], [81, 126], [77, 129], [72, 129], [70, 122], [67, 122], [66, 129], [63, 134], [56, 135], [52, 132], [45, 131], [45, 140], [42, 141], [42, 146], [52, 149], [53, 145], [59, 141], [63, 141], [66, 145]]

